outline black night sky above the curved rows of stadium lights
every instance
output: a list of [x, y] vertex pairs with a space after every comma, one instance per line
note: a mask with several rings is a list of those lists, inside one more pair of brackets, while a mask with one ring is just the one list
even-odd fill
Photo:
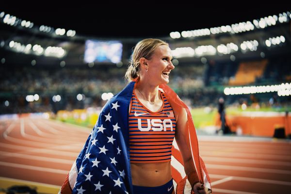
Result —
[[254, 4], [232, 8], [187, 4], [173, 4], [171, 7], [160, 4], [143, 8], [120, 8], [104, 4], [49, 7], [26, 9], [4, 6], [0, 11], [30, 20], [39, 26], [72, 29], [79, 35], [104, 38], [164, 37], [169, 36], [170, 32], [230, 25], [290, 11], [290, 7], [276, 4], [265, 8]]

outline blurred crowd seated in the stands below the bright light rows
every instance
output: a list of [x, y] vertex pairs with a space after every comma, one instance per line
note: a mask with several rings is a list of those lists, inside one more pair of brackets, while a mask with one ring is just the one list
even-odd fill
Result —
[[[272, 63], [260, 78], [253, 84], [264, 80], [280, 83], [282, 76], [275, 77], [278, 72], [291, 74], [290, 65], [281, 64], [284, 72], [277, 69]], [[258, 95], [233, 95], [223, 93], [228, 80], [234, 77], [238, 63], [206, 63], [196, 65], [177, 65], [170, 74], [171, 88], [191, 107], [215, 107], [219, 97], [225, 97], [226, 105], [234, 103], [261, 103], [264, 105], [290, 106], [289, 97], [278, 97], [276, 93]], [[124, 79], [126, 65], [95, 65], [90, 68], [85, 65], [7, 65], [0, 66], [0, 113], [27, 113], [27, 112], [57, 112], [58, 110], [83, 109], [91, 106], [102, 107], [106, 100], [102, 100], [103, 93], [116, 94], [124, 88], [127, 82]], [[273, 77], [272, 77], [273, 76]], [[269, 80], [268, 80], [269, 79]], [[272, 80], [270, 80], [272, 79]], [[284, 81], [284, 80], [283, 80]], [[288, 81], [288, 80], [286, 80]], [[28, 102], [27, 95], [39, 95], [37, 101]], [[83, 95], [81, 100], [77, 95]], [[60, 101], [54, 101], [53, 96], [60, 95]], [[275, 103], [270, 104], [270, 99]], [[271, 100], [272, 101], [272, 100]]]

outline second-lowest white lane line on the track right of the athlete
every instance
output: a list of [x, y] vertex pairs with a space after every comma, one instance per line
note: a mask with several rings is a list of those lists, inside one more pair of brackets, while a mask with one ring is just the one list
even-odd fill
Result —
[[[229, 176], [226, 175], [209, 175], [211, 178], [227, 178]], [[267, 183], [267, 184], [276, 184], [276, 185], [288, 185], [291, 186], [291, 182], [281, 181], [281, 180], [270, 180], [270, 179], [263, 179], [263, 178], [250, 178], [250, 177], [236, 177], [231, 176], [233, 180], [240, 180], [246, 182], [260, 182], [260, 183]]]

